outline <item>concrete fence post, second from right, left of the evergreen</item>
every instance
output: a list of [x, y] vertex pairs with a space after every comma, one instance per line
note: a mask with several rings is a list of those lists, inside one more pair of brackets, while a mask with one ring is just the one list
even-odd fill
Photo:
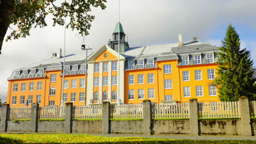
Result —
[[190, 125], [190, 135], [199, 135], [199, 125], [198, 125], [198, 115], [197, 115], [197, 99], [189, 100], [189, 125]]

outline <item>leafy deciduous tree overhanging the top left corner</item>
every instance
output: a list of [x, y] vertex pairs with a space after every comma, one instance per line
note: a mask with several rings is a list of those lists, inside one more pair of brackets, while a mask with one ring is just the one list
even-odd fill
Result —
[[[25, 38], [30, 35], [32, 27], [45, 27], [45, 17], [53, 15], [53, 26], [65, 24], [67, 28], [77, 29], [79, 33], [88, 35], [94, 15], [91, 8], [105, 9], [106, 0], [0, 0], [0, 54], [3, 39], [9, 28], [11, 33], [7, 40]], [[58, 4], [56, 4], [58, 3]]]

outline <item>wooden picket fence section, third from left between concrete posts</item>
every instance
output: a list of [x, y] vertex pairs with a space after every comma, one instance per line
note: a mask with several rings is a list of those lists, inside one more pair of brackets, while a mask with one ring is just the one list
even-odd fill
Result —
[[73, 119], [101, 119], [102, 105], [73, 106]]

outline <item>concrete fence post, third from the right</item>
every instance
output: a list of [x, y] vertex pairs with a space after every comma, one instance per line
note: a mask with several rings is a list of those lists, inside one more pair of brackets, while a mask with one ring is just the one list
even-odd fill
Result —
[[151, 135], [152, 105], [150, 100], [143, 100], [143, 131], [144, 135]]

